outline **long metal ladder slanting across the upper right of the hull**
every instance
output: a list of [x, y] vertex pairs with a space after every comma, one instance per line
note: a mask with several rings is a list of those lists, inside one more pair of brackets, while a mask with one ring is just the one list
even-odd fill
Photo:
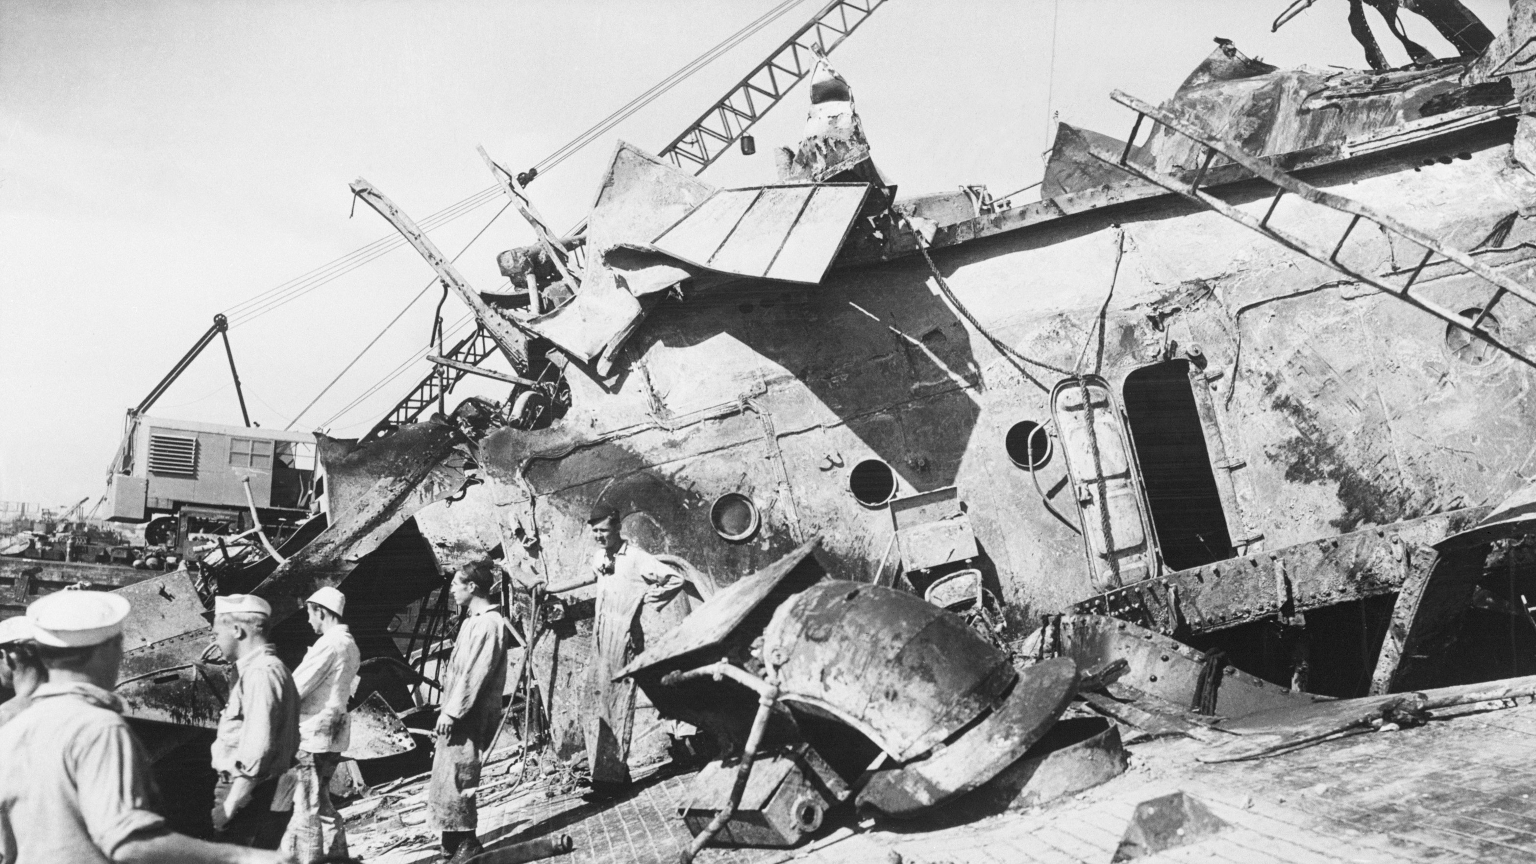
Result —
[[[1217, 213], [1238, 223], [1240, 226], [1252, 229], [1273, 239], [1275, 242], [1279, 242], [1287, 249], [1299, 252], [1301, 255], [1306, 255], [1307, 258], [1319, 264], [1332, 267], [1333, 270], [1349, 276], [1350, 279], [1361, 281], [1373, 289], [1378, 289], [1404, 302], [1422, 308], [1424, 312], [1428, 312], [1430, 315], [1445, 321], [1447, 324], [1465, 330], [1471, 336], [1488, 342], [1490, 345], [1508, 353], [1510, 356], [1525, 364], [1536, 365], [1536, 361], [1525, 356], [1525, 353], [1522, 353], [1519, 348], [1501, 341], [1501, 335], [1498, 331], [1493, 331], [1485, 327], [1490, 312], [1505, 296], [1513, 295], [1536, 307], [1536, 292], [1531, 292], [1530, 289], [1516, 282], [1514, 279], [1510, 279], [1508, 276], [1495, 272], [1488, 265], [1476, 261], [1467, 252], [1448, 246], [1419, 229], [1402, 224], [1385, 213], [1376, 212], [1375, 209], [1361, 204], [1359, 201], [1344, 198], [1342, 195], [1335, 195], [1332, 192], [1324, 192], [1315, 186], [1303, 183], [1301, 180], [1296, 180], [1295, 176], [1276, 169], [1267, 161], [1249, 155], [1247, 152], [1243, 150], [1241, 144], [1236, 144], [1224, 138], [1218, 138], [1213, 134], [1206, 132], [1204, 129], [1200, 127], [1198, 123], [1189, 118], [1178, 117], [1172, 112], [1154, 107], [1121, 91], [1115, 91], [1114, 94], [1111, 94], [1111, 98], [1135, 110], [1137, 120], [1135, 124], [1132, 124], [1130, 127], [1130, 137], [1127, 138], [1126, 147], [1124, 150], [1121, 150], [1118, 160], [1106, 157], [1098, 152], [1091, 153], [1094, 158], [1106, 164], [1111, 164], [1114, 167], [1118, 167], [1134, 176], [1140, 176], [1147, 183], [1161, 186], [1169, 192], [1183, 195], [1184, 198], [1189, 198], [1190, 201], [1203, 207], [1215, 210]], [[1130, 149], [1135, 144], [1137, 132], [1140, 132], [1141, 121], [1146, 120], [1147, 117], [1150, 117], [1155, 123], [1204, 147], [1204, 160], [1201, 161], [1200, 170], [1195, 172], [1192, 181], [1184, 181], [1177, 176], [1158, 173], [1157, 170], [1152, 170], [1146, 166], [1140, 166], [1129, 161]], [[1264, 212], [1264, 216], [1256, 218], [1252, 213], [1243, 212], [1238, 207], [1229, 204], [1227, 201], [1217, 198], [1209, 190], [1200, 187], [1201, 181], [1206, 176], [1206, 170], [1210, 167], [1212, 160], [1215, 160], [1215, 157], [1218, 155], [1226, 157], [1227, 160], [1247, 169], [1255, 176], [1267, 181], [1275, 187], [1275, 196], [1270, 200], [1269, 209]], [[1310, 204], [1338, 210], [1341, 213], [1347, 213], [1352, 216], [1349, 226], [1344, 229], [1344, 233], [1339, 235], [1339, 239], [1338, 242], [1333, 244], [1332, 250], [1316, 246], [1309, 239], [1296, 236], [1295, 233], [1276, 229], [1275, 226], [1270, 224], [1270, 216], [1275, 215], [1275, 207], [1279, 204], [1279, 200], [1286, 193], [1295, 195], [1296, 198], [1301, 198]], [[1358, 226], [1361, 221], [1367, 221], [1381, 229], [1384, 233], [1396, 235], [1424, 249], [1424, 258], [1419, 259], [1418, 265], [1409, 273], [1407, 279], [1401, 285], [1387, 282], [1382, 278], [1370, 273], [1362, 273], [1339, 261], [1339, 252], [1344, 249], [1344, 242], [1349, 241], [1350, 232], [1353, 232], [1355, 226]], [[1445, 308], [1444, 305], [1439, 305], [1435, 301], [1412, 293], [1413, 282], [1418, 281], [1419, 275], [1424, 272], [1424, 267], [1436, 255], [1445, 261], [1458, 264], [1467, 273], [1478, 276], [1479, 279], [1488, 282], [1493, 287], [1493, 295], [1485, 302], [1479, 304], [1478, 313], [1475, 316], [1467, 318], [1465, 315], [1459, 315], [1450, 308]]]

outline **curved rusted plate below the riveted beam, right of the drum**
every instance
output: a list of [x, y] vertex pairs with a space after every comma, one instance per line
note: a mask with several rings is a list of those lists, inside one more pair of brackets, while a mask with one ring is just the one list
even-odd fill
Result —
[[[1209, 664], [1206, 654], [1163, 634], [1138, 628], [1106, 615], [1063, 615], [1060, 622], [1060, 652], [1081, 669], [1094, 669], [1114, 660], [1129, 668], [1118, 684], [1157, 697], [1172, 706], [1190, 709], [1200, 695], [1201, 671]], [[1218, 717], [1243, 717], [1256, 711], [1312, 704], [1326, 697], [1290, 692], [1235, 666], [1220, 664], [1217, 684]]]

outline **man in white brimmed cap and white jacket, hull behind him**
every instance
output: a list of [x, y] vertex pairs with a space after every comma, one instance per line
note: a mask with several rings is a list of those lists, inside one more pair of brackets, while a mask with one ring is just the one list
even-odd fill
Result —
[[352, 743], [347, 700], [358, 686], [358, 643], [341, 615], [347, 597], [329, 585], [309, 595], [309, 626], [319, 638], [293, 669], [298, 688], [298, 764], [293, 766], [293, 818], [280, 849], [300, 864], [347, 856], [347, 832], [330, 803], [330, 777]]

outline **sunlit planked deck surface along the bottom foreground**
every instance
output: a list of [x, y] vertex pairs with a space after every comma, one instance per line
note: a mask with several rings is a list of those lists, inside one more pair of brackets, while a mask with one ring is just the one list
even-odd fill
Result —
[[[1528, 861], [1536, 858], [1536, 706], [1521, 704], [1438, 720], [1416, 729], [1372, 732], [1249, 763], [1203, 764], [1203, 744], [1166, 738], [1127, 746], [1124, 775], [1066, 801], [974, 823], [869, 824], [842, 829], [799, 850], [708, 849], [700, 864], [742, 861], [895, 861], [906, 864], [1107, 864], [1141, 801], [1184, 792], [1229, 827], [1143, 858], [1149, 862], [1393, 862]], [[570, 864], [671, 862], [688, 835], [676, 803], [690, 777], [642, 781], [616, 804], [542, 787], [498, 792], [487, 784], [482, 836], [493, 841], [570, 833]], [[410, 826], [419, 783], [392, 807], [404, 830], [349, 826], [367, 861], [429, 861], [425, 826]], [[382, 855], [389, 839], [415, 835]], [[490, 843], [487, 846], [492, 846]], [[892, 855], [894, 853], [894, 855]]]

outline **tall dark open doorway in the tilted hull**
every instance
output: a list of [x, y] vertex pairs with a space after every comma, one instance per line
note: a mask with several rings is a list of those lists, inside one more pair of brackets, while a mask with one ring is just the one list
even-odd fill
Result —
[[1121, 394], [1164, 566], [1189, 569], [1230, 559], [1232, 537], [1189, 361], [1138, 368], [1126, 376]]

